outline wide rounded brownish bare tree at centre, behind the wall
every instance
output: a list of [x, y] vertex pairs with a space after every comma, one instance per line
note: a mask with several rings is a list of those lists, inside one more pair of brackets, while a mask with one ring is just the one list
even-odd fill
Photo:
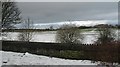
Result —
[[82, 36], [80, 29], [76, 25], [63, 25], [56, 34], [56, 42], [58, 43], [81, 43]]

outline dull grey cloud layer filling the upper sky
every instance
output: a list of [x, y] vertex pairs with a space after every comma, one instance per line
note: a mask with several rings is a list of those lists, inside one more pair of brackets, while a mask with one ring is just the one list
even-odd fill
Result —
[[66, 20], [117, 20], [117, 2], [19, 2], [23, 18], [35, 23]]

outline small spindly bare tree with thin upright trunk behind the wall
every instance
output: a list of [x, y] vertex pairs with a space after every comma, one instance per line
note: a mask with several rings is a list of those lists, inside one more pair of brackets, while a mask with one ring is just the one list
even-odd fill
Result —
[[23, 28], [24, 31], [18, 35], [18, 39], [20, 41], [30, 41], [34, 33], [33, 21], [31, 21], [29, 18], [27, 19], [27, 21], [25, 20], [25, 23], [23, 24]]

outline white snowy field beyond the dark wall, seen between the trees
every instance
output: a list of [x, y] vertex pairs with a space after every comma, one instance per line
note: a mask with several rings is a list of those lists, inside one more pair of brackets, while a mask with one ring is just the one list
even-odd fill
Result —
[[[118, 31], [115, 31], [118, 35]], [[3, 40], [18, 40], [18, 32], [8, 32], [7, 37], [2, 37]], [[83, 44], [93, 44], [97, 41], [99, 36], [98, 32], [94, 29], [92, 31], [86, 31], [81, 33], [84, 37], [82, 40]], [[118, 39], [118, 36], [116, 36]], [[32, 42], [56, 42], [56, 31], [44, 31], [44, 32], [35, 32], [31, 39]]]

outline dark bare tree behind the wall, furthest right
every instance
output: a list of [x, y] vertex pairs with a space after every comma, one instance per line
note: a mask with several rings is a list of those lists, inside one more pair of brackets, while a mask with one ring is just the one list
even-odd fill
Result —
[[97, 44], [107, 44], [115, 40], [115, 34], [112, 28], [108, 25], [103, 25], [98, 27], [99, 37]]

